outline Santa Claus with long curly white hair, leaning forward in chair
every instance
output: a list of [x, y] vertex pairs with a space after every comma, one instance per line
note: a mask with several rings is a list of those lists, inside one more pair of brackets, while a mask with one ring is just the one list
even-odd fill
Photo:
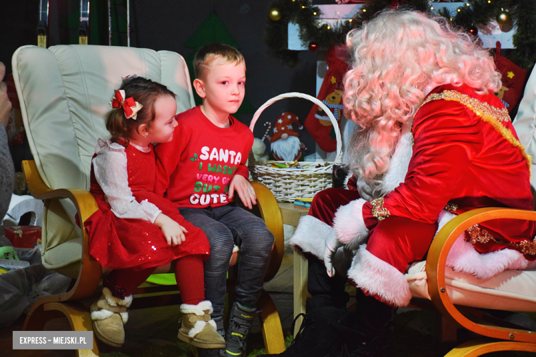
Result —
[[[315, 196], [291, 238], [309, 261], [312, 298], [284, 356], [381, 354], [396, 308], [411, 299], [403, 274], [443, 224], [480, 207], [533, 209], [531, 159], [493, 95], [501, 81], [488, 51], [445, 19], [411, 11], [379, 14], [347, 44], [353, 175], [348, 189]], [[534, 266], [534, 235], [532, 221], [476, 224], [447, 265], [482, 278]], [[357, 286], [352, 314], [348, 279]]]

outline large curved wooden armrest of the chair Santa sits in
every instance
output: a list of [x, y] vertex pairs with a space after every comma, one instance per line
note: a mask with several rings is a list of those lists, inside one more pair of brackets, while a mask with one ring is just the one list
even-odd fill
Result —
[[536, 334], [534, 333], [506, 327], [489, 327], [470, 321], [454, 307], [447, 293], [445, 263], [456, 238], [474, 224], [498, 218], [536, 220], [536, 211], [486, 207], [467, 211], [447, 222], [432, 241], [428, 251], [426, 260], [428, 292], [441, 314], [450, 316], [467, 330], [492, 338], [536, 343]]

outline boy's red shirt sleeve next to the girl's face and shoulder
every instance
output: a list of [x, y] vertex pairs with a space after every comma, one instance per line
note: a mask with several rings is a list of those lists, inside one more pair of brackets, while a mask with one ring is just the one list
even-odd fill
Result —
[[164, 196], [170, 184], [170, 176], [177, 169], [181, 155], [186, 149], [188, 139], [185, 137], [185, 130], [179, 123], [173, 133], [172, 141], [160, 143], [155, 146], [157, 157], [157, 173], [155, 180], [155, 194]]

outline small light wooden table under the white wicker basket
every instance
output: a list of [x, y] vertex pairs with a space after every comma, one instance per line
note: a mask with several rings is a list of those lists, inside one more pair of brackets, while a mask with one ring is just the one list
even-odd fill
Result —
[[[278, 203], [281, 210], [281, 216], [283, 224], [289, 224], [289, 226], [298, 227], [298, 222], [302, 216], [306, 216], [309, 213], [309, 209], [303, 209], [294, 207], [293, 203], [280, 202]], [[307, 260], [299, 255], [293, 253], [294, 257], [294, 317], [300, 313], [305, 313], [305, 300], [310, 297], [307, 291]], [[299, 324], [296, 323], [295, 329], [298, 329]]]

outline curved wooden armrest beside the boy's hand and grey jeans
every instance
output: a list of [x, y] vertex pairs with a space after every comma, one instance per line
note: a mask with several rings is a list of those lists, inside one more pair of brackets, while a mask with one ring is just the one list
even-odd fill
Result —
[[271, 191], [259, 182], [252, 182], [257, 196], [257, 207], [260, 211], [260, 217], [265, 220], [266, 227], [275, 238], [273, 249], [271, 251], [270, 265], [266, 273], [265, 281], [269, 281], [276, 276], [281, 266], [284, 251], [284, 232], [281, 211], [276, 198]]

